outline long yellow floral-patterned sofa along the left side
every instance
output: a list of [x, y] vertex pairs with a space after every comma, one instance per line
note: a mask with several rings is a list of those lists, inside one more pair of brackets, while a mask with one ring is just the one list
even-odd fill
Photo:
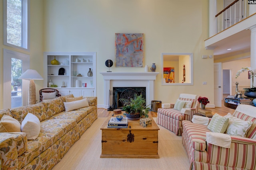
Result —
[[70, 111], [65, 110], [66, 98], [74, 96], [61, 96], [26, 107], [0, 111], [0, 119], [9, 115], [21, 125], [28, 113], [40, 120], [40, 132], [36, 139], [28, 140], [28, 133], [24, 132], [0, 133], [0, 169], [48, 170], [60, 161], [97, 119], [97, 97], [87, 97], [87, 107]]

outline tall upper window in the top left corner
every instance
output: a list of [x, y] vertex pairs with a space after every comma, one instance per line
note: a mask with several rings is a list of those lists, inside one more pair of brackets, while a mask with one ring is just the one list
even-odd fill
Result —
[[4, 45], [29, 51], [29, 0], [4, 0]]

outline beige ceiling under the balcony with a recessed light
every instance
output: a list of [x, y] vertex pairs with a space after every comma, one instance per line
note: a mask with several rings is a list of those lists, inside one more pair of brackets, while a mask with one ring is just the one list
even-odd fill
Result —
[[251, 31], [245, 29], [210, 45], [209, 47], [215, 47], [214, 60], [250, 52], [250, 36]]

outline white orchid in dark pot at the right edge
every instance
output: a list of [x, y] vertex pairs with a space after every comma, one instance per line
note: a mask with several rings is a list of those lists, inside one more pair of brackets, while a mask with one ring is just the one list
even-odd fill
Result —
[[248, 77], [252, 78], [252, 88], [244, 88], [244, 96], [247, 96], [249, 98], [256, 98], [256, 88], [254, 87], [254, 77], [256, 77], [256, 70], [253, 70], [251, 67], [245, 67], [241, 70], [238, 70], [236, 73], [236, 78], [240, 76], [240, 73], [248, 71]]

